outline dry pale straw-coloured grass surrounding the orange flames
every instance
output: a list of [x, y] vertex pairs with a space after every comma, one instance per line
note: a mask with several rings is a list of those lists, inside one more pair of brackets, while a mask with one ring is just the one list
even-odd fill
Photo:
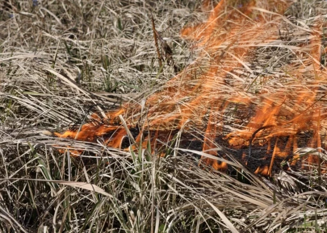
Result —
[[[179, 148], [180, 134], [164, 157], [153, 156], [151, 145], [122, 151], [104, 146], [101, 137], [48, 134], [79, 129], [93, 112], [162, 90], [176, 70], [159, 67], [151, 13], [180, 71], [201, 53], [180, 37], [186, 24], [207, 19], [201, 8], [199, 0], [0, 1], [0, 232], [327, 231], [327, 178], [320, 167], [261, 177], [217, 145], [234, 168], [226, 174], [199, 167], [199, 156], [210, 155]], [[288, 82], [292, 74], [282, 67], [302, 60], [284, 45], [305, 42], [303, 29], [317, 18], [327, 25], [326, 17], [326, 0], [294, 1], [285, 12], [290, 21], [280, 24], [280, 44], [259, 47], [249, 69], [235, 69], [229, 81], [236, 76], [244, 81], [238, 88], [254, 95], [273, 93], [287, 77], [277, 86], [295, 92], [297, 83]], [[326, 58], [321, 65], [324, 72]], [[258, 78], [259, 71], [270, 79]], [[326, 76], [315, 96], [322, 114], [324, 83]], [[59, 153], [68, 146], [83, 153]], [[319, 153], [325, 160], [325, 150]]]

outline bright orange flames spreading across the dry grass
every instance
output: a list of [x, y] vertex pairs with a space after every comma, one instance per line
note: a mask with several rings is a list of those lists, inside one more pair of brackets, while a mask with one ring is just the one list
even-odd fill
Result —
[[[296, 151], [304, 146], [322, 147], [324, 141], [326, 111], [321, 88], [327, 70], [320, 60], [326, 52], [322, 49], [326, 23], [318, 17], [312, 28], [294, 25], [282, 16], [293, 3], [291, 0], [238, 0], [238, 3], [220, 0], [206, 22], [181, 30], [181, 37], [195, 44], [198, 58], [169, 80], [162, 91], [148, 96], [146, 108], [128, 103], [104, 118], [94, 113], [91, 118], [102, 123], [87, 123], [78, 131], [55, 135], [86, 141], [104, 137], [108, 146], [126, 149], [129, 145], [123, 145], [128, 136], [122, 126], [124, 119], [136, 142], [142, 140], [142, 146], [146, 146], [150, 140], [152, 151], [160, 141], [172, 140], [183, 128], [183, 133], [191, 132], [188, 135], [202, 133], [202, 149], [211, 155], [218, 155], [211, 149], [216, 147], [219, 137], [229, 147], [249, 148], [249, 153], [243, 152], [240, 158], [248, 166], [255, 156], [253, 148], [266, 148], [261, 152], [264, 163], [254, 165], [257, 174], [271, 175], [277, 160], [288, 159], [295, 166], [301, 159], [303, 168], [317, 164], [320, 160], [316, 155], [300, 158]], [[204, 0], [203, 8], [209, 6], [209, 1]], [[306, 40], [290, 45], [280, 43], [284, 39], [278, 30], [280, 24], [297, 28], [296, 33]], [[295, 58], [292, 62], [285, 61], [278, 72], [257, 74], [249, 64], [262, 47], [282, 47]], [[283, 57], [274, 62], [278, 59]], [[237, 70], [243, 71], [242, 77], [235, 73]], [[264, 83], [273, 80], [275, 86], [265, 88]], [[256, 85], [257, 82], [263, 84]], [[304, 140], [304, 134], [310, 134], [310, 140]], [[136, 147], [135, 144], [132, 148]], [[224, 162], [210, 159], [203, 162], [214, 169], [227, 169]]]

